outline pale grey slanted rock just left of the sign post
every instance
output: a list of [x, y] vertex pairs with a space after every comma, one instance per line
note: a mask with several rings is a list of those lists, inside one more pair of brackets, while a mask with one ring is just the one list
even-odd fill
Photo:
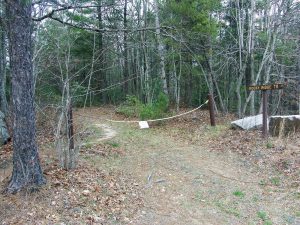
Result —
[[231, 127], [243, 130], [259, 129], [262, 127], [262, 114], [245, 117], [240, 120], [235, 120], [231, 122]]

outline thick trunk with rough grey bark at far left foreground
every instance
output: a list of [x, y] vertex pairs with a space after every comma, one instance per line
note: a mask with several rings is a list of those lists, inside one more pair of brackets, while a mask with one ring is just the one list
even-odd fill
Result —
[[13, 100], [13, 172], [7, 187], [16, 193], [45, 184], [35, 140], [31, 1], [6, 0]]

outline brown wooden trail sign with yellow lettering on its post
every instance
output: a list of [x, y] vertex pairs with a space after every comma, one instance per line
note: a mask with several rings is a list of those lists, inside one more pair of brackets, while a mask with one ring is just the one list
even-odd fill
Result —
[[262, 91], [263, 100], [263, 128], [262, 135], [264, 138], [268, 137], [268, 90], [283, 89], [284, 84], [265, 84], [248, 86], [249, 91]]

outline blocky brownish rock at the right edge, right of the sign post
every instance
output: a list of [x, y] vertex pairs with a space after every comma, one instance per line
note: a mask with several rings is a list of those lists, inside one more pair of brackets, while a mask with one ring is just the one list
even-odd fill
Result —
[[272, 136], [287, 136], [300, 131], [300, 115], [271, 116], [269, 131]]

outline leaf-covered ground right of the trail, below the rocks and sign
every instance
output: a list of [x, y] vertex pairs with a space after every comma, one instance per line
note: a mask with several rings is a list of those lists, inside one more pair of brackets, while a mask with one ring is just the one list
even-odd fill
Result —
[[300, 135], [264, 140], [261, 131], [230, 129], [234, 115], [216, 117], [217, 127], [210, 127], [209, 112], [192, 114], [168, 121], [167, 126], [156, 127], [162, 133], [186, 144], [201, 144], [211, 151], [235, 152], [255, 164], [269, 165], [300, 180]]

